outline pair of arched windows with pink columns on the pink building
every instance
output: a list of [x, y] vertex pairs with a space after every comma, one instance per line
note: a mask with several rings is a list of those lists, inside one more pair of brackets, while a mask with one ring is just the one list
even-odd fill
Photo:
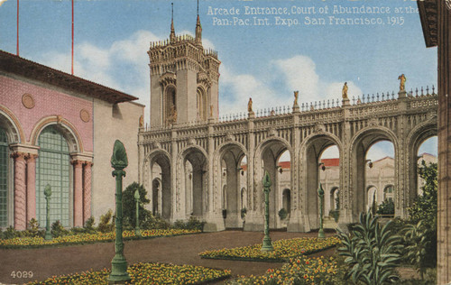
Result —
[[82, 200], [84, 195], [90, 196], [90, 189], [74, 193], [74, 187], [84, 190], [84, 172], [88, 167], [86, 179], [90, 179], [90, 164], [74, 159], [81, 152], [83, 143], [78, 131], [64, 118], [42, 118], [27, 142], [17, 118], [0, 106], [0, 227], [24, 229], [31, 218], [45, 226], [43, 189], [47, 184], [52, 192], [51, 221], [60, 220], [64, 226], [83, 225], [84, 216], [90, 215], [90, 205]]

